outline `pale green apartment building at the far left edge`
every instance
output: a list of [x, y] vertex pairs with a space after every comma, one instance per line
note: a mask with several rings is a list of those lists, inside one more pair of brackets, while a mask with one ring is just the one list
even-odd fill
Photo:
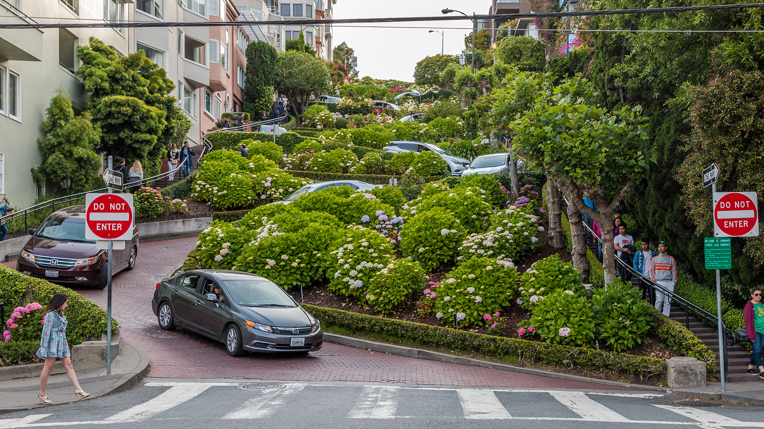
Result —
[[[0, 0], [0, 16], [17, 24], [118, 22], [133, 19], [134, 8], [123, 0]], [[45, 191], [32, 181], [30, 169], [43, 161], [37, 139], [45, 136], [41, 123], [57, 88], [69, 93], [77, 113], [87, 104], [88, 94], [74, 73], [76, 47], [89, 37], [121, 55], [131, 52], [125, 28], [0, 29], [0, 194], [17, 206], [31, 205]]]

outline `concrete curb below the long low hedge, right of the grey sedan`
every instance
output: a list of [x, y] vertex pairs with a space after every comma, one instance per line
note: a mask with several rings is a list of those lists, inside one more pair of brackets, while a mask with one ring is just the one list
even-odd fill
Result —
[[471, 367], [483, 367], [493, 370], [513, 371], [515, 373], [531, 374], [534, 376], [544, 376], [554, 379], [568, 379], [586, 383], [601, 384], [604, 386], [630, 387], [632, 389], [657, 390], [659, 392], [671, 393], [672, 389], [665, 389], [656, 386], [644, 386], [641, 384], [620, 383], [603, 379], [592, 379], [584, 376], [572, 376], [569, 374], [552, 373], [543, 370], [534, 370], [532, 368], [513, 367], [503, 363], [488, 362], [487, 360], [471, 359], [469, 357], [454, 356], [452, 354], [439, 353], [436, 351], [422, 350], [412, 347], [403, 347], [393, 344], [377, 343], [375, 341], [361, 340], [359, 338], [346, 337], [345, 335], [329, 334], [324, 332], [324, 341], [332, 344], [340, 344], [348, 347], [362, 348], [371, 351], [380, 351], [387, 354], [396, 354], [398, 356], [418, 357], [419, 359], [436, 360], [439, 362], [458, 363], [469, 365]]

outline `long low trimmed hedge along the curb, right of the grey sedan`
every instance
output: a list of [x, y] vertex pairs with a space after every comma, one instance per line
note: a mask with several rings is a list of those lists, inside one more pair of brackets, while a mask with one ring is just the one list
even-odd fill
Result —
[[429, 347], [478, 352], [490, 356], [516, 357], [517, 361], [522, 363], [571, 365], [585, 370], [628, 373], [640, 379], [650, 379], [665, 372], [665, 362], [652, 357], [527, 341], [520, 338], [495, 337], [461, 329], [404, 322], [308, 304], [301, 305], [324, 326], [337, 326], [351, 332], [370, 334], [384, 332], [387, 335], [414, 340]]

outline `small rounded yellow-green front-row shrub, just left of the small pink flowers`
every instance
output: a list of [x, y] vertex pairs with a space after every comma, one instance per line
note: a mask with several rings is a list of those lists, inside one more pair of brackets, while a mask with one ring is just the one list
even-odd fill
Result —
[[413, 290], [422, 287], [425, 280], [425, 273], [419, 263], [396, 259], [371, 277], [366, 295], [361, 301], [382, 314], [389, 314]]

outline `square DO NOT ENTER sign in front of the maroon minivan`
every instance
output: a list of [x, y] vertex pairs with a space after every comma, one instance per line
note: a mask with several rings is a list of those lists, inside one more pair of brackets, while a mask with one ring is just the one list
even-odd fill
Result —
[[133, 238], [132, 194], [86, 194], [85, 239], [131, 240]]

